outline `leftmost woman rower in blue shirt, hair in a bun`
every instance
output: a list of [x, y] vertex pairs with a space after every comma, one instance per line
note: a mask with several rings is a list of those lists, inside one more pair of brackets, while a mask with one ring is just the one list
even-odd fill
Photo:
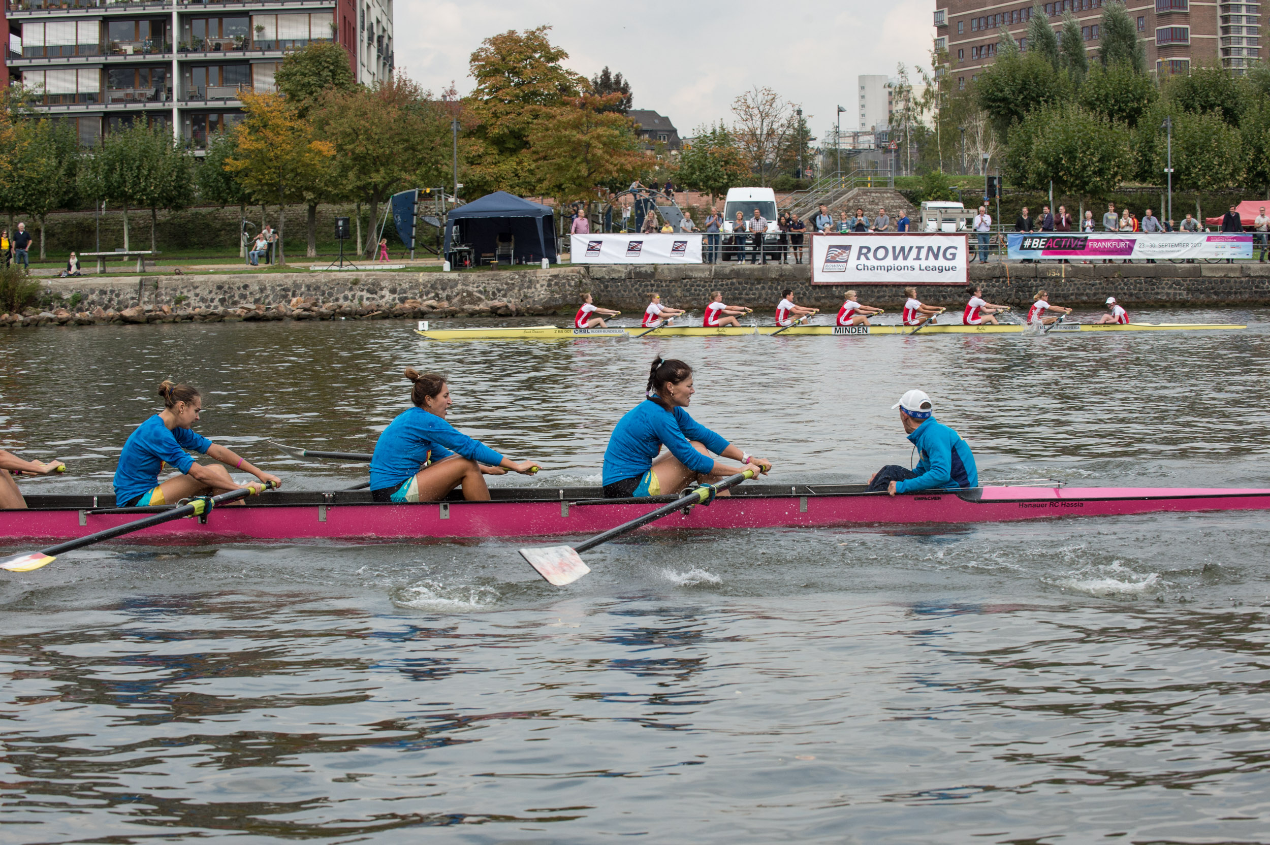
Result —
[[[133, 429], [119, 452], [119, 466], [114, 471], [114, 502], [119, 508], [174, 505], [190, 496], [216, 495], [246, 486], [234, 481], [221, 464], [250, 472], [260, 481], [282, 485], [277, 476], [257, 469], [245, 458], [189, 430], [203, 410], [203, 400], [196, 388], [164, 382], [159, 386], [159, 396], [163, 397], [163, 411]], [[198, 463], [187, 454], [187, 449], [201, 452], [220, 463]], [[174, 467], [180, 475], [159, 483], [164, 464]]]

